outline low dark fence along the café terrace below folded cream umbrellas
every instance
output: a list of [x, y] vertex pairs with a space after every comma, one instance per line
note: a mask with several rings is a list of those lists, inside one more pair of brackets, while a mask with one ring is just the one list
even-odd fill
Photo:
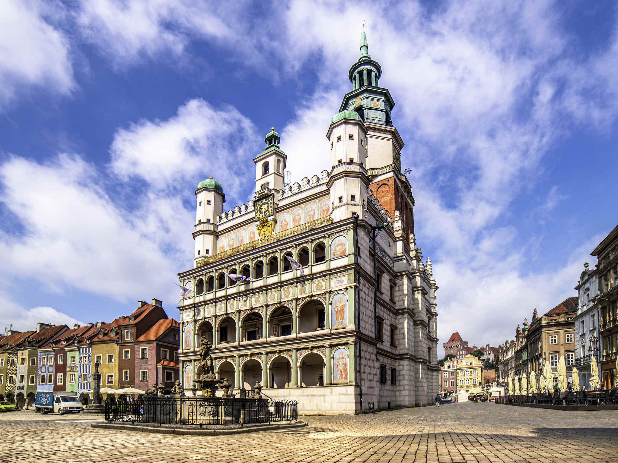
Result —
[[497, 404], [541, 404], [569, 406], [618, 405], [618, 390], [572, 391], [496, 397]]

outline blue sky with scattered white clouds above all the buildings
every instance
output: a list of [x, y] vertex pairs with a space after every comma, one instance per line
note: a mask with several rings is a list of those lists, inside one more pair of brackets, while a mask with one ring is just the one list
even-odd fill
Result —
[[[192, 265], [195, 186], [252, 194], [270, 127], [328, 162], [366, 19], [439, 336], [512, 338], [616, 226], [612, 1], [15, 1], [0, 15], [0, 323], [95, 322]], [[322, 167], [324, 166], [324, 167]]]

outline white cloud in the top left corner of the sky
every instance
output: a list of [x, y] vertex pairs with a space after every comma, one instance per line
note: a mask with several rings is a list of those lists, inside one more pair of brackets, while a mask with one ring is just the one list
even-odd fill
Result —
[[76, 87], [67, 36], [46, 19], [61, 15], [38, 1], [3, 2], [0, 14], [0, 109], [31, 87], [70, 94]]

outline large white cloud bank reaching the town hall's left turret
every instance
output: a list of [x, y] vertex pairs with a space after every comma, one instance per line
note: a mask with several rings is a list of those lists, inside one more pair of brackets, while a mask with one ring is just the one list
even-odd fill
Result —
[[44, 164], [10, 156], [0, 165], [0, 201], [23, 233], [0, 234], [0, 291], [20, 278], [57, 293], [77, 288], [126, 301], [156, 291], [175, 303], [174, 275], [193, 262], [195, 215], [183, 201], [207, 169], [197, 161], [221, 166], [217, 178], [237, 173], [224, 191], [243, 198], [243, 169], [234, 166], [246, 169], [254, 140], [255, 128], [233, 107], [193, 100], [168, 120], [118, 130], [106, 173], [76, 154]]

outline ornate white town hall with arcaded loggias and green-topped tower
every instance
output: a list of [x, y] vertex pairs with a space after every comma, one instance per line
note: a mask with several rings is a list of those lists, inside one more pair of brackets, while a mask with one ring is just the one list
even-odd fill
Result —
[[188, 394], [203, 338], [237, 395], [260, 383], [300, 413], [423, 406], [439, 391], [438, 286], [415, 241], [395, 103], [364, 32], [360, 49], [321, 172], [288, 183], [273, 128], [248, 204], [224, 211], [212, 177], [195, 191], [194, 265], [179, 274], [192, 290], [179, 305]]

